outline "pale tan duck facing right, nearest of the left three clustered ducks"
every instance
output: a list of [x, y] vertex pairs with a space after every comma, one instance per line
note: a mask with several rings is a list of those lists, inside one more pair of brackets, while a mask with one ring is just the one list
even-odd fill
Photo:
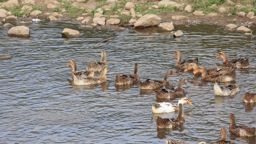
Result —
[[76, 77], [73, 74], [74, 85], [88, 85], [88, 84], [100, 84], [107, 82], [106, 73], [109, 72], [107, 68], [103, 68], [100, 77]]

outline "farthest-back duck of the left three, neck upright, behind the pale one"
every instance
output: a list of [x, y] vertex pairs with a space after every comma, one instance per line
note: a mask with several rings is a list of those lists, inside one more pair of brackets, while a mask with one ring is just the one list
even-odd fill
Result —
[[109, 67], [109, 64], [106, 61], [106, 52], [101, 51], [101, 60], [96, 62], [91, 60], [89, 65], [86, 67], [86, 70], [100, 72], [103, 68], [108, 68], [108, 67]]

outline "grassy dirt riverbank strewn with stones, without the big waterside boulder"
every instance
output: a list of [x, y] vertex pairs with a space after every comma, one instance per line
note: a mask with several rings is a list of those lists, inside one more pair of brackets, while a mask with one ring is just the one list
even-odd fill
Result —
[[[6, 19], [8, 15], [13, 15], [16, 16], [15, 21], [17, 22], [29, 21], [32, 18], [50, 19], [53, 16], [56, 18], [52, 19], [54, 21], [72, 19], [81, 24], [93, 24], [95, 17], [105, 17], [105, 21], [114, 18], [119, 19], [122, 24], [133, 24], [145, 14], [156, 14], [161, 18], [160, 23], [256, 25], [256, 5], [250, 0], [235, 0], [235, 2], [233, 2], [234, 0], [0, 1], [0, 9], [6, 10], [5, 15], [0, 11], [0, 17]], [[7, 5], [6, 3], [10, 3], [10, 1], [14, 4]], [[125, 8], [127, 2], [134, 4], [133, 11]], [[186, 18], [173, 19], [172, 16], [176, 15]]]

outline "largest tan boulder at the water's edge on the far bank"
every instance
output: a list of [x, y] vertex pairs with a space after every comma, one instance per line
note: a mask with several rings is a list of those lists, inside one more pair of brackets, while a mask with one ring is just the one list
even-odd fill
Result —
[[154, 26], [158, 25], [161, 21], [161, 18], [156, 14], [146, 14], [138, 19], [138, 21], [134, 24], [135, 27], [146, 27], [146, 26]]

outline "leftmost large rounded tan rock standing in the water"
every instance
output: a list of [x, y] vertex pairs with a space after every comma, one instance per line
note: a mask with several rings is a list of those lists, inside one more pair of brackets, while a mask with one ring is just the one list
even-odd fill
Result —
[[24, 25], [14, 26], [7, 32], [7, 35], [18, 36], [18, 37], [29, 37], [30, 36], [29, 27], [26, 27]]

